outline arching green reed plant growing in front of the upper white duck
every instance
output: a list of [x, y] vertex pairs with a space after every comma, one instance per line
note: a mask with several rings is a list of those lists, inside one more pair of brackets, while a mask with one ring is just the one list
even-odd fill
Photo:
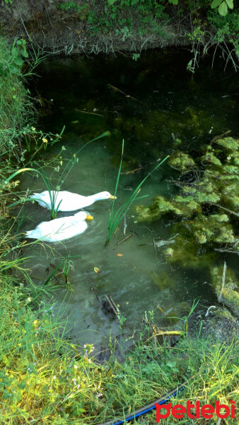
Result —
[[[50, 208], [49, 208], [49, 212], [51, 215], [51, 219], [53, 220], [54, 218], [57, 218], [57, 212], [59, 210], [59, 206], [62, 202], [62, 200], [60, 200], [58, 202], [57, 200], [57, 195], [58, 195], [58, 191], [60, 191], [60, 188], [62, 186], [62, 184], [64, 183], [64, 181], [66, 180], [66, 177], [69, 175], [69, 173], [71, 172], [71, 169], [74, 167], [74, 165], [78, 162], [78, 157], [76, 156], [79, 152], [81, 152], [81, 150], [86, 147], [89, 143], [94, 142], [95, 140], [99, 140], [102, 137], [106, 137], [110, 135], [110, 132], [104, 132], [102, 135], [95, 137], [92, 140], [89, 140], [88, 142], [86, 142], [85, 145], [83, 145], [83, 147], [81, 147], [80, 149], [78, 149], [78, 151], [73, 155], [73, 157], [71, 159], [69, 159], [68, 161], [66, 161], [66, 165], [64, 166], [64, 169], [62, 171], [61, 176], [59, 177], [57, 184], [54, 188], [52, 188], [52, 184], [50, 182], [50, 180], [47, 178], [45, 171], [43, 169], [34, 169], [34, 168], [24, 168], [24, 169], [20, 169], [18, 171], [15, 171], [15, 173], [11, 174], [11, 176], [8, 177], [8, 179], [6, 179], [3, 182], [0, 182], [0, 190], [2, 187], [6, 186], [6, 184], [11, 181], [12, 179], [14, 179], [14, 177], [18, 176], [18, 174], [23, 173], [24, 171], [33, 171], [36, 174], [39, 174], [44, 183], [45, 186], [47, 188], [47, 191], [49, 193], [49, 199], [50, 199]], [[42, 199], [37, 199], [35, 198], [35, 200], [40, 200], [40, 202], [45, 203], [44, 200]], [[20, 203], [26, 202], [26, 201], [30, 201], [32, 203], [34, 203], [34, 201], [32, 198], [21, 198], [21, 200], [18, 200], [14, 203], [12, 203], [11, 205], [8, 205], [8, 208], [12, 208], [13, 206], [16, 206]], [[47, 203], [45, 203], [46, 207], [48, 208]]]

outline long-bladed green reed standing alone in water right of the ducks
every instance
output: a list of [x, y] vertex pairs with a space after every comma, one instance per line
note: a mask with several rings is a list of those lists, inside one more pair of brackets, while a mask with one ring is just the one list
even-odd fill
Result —
[[[119, 171], [118, 171], [117, 179], [116, 179], [116, 183], [115, 183], [115, 193], [114, 193], [114, 196], [116, 196], [117, 188], [118, 188], [118, 185], [119, 185], [119, 176], [120, 176], [120, 171], [121, 171], [121, 168], [122, 168], [123, 153], [124, 153], [124, 140], [122, 141], [121, 161], [120, 161], [120, 164], [119, 164]], [[154, 169], [152, 171], [150, 171], [150, 173], [148, 173], [146, 175], [146, 177], [141, 181], [141, 183], [139, 183], [139, 185], [136, 187], [136, 189], [134, 189], [134, 191], [132, 192], [132, 195], [129, 196], [127, 202], [124, 203], [123, 205], [121, 205], [117, 209], [116, 212], [114, 212], [115, 199], [113, 200], [112, 208], [111, 208], [111, 211], [110, 211], [108, 234], [107, 234], [107, 239], [105, 241], [105, 245], [109, 244], [110, 239], [112, 238], [112, 235], [115, 232], [115, 229], [117, 229], [117, 226], [123, 220], [124, 215], [127, 213], [127, 211], [129, 210], [129, 208], [131, 207], [132, 203], [134, 203], [134, 200], [139, 200], [139, 199], [146, 198], [147, 195], [145, 195], [145, 196], [138, 196], [139, 195], [139, 192], [141, 190], [141, 186], [144, 184], [144, 182], [146, 181], [146, 179], [148, 179], [148, 177], [151, 176], [151, 174], [153, 174], [153, 171], [155, 171], [156, 169], [158, 169], [158, 167], [161, 166], [163, 164], [163, 162], [165, 162], [165, 160], [168, 159], [168, 157], [169, 157], [169, 155], [167, 157], [165, 157], [163, 159], [163, 161], [161, 161], [159, 164], [157, 164], [154, 167]]]

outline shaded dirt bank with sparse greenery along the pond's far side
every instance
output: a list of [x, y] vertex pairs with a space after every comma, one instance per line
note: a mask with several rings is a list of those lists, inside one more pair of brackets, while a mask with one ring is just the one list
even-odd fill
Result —
[[[145, 24], [142, 21], [144, 12], [140, 22], [139, 16], [133, 13], [130, 28], [127, 9], [124, 11], [126, 17], [121, 20], [115, 18], [113, 25], [112, 14], [105, 11], [103, 1], [76, 0], [70, 3], [73, 6], [66, 10], [66, 6], [61, 8], [61, 5], [66, 3], [57, 0], [13, 0], [11, 4], [0, 0], [2, 32], [8, 38], [25, 38], [32, 41], [35, 47], [47, 52], [63, 52], [66, 55], [114, 53], [118, 50], [141, 52], [148, 48], [190, 43], [187, 35], [192, 30], [190, 18], [185, 18], [184, 22], [180, 23], [170, 8], [164, 13], [162, 6], [161, 18], [158, 18], [152, 9], [152, 15], [148, 15]], [[107, 1], [105, 3], [107, 4]], [[82, 4], [85, 9], [82, 9]], [[110, 22], [108, 27], [107, 19]], [[127, 21], [127, 24], [124, 25], [124, 21]]]

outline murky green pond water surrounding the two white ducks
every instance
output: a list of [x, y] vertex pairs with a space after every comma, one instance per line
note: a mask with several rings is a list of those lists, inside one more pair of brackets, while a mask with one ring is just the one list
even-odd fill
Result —
[[[223, 73], [224, 64], [218, 61], [214, 70], [208, 62], [192, 76], [186, 70], [189, 60], [187, 50], [175, 50], [147, 52], [138, 61], [119, 54], [43, 62], [35, 88], [49, 102], [45, 102], [47, 109], [42, 109], [39, 126], [59, 133], [66, 125], [62, 139], [38, 157], [41, 161], [53, 161], [45, 169], [52, 183], [62, 171], [61, 159], [57, 158], [62, 145], [66, 149], [62, 157], [71, 158], [86, 141], [110, 130], [110, 137], [92, 142], [81, 151], [62, 190], [85, 196], [100, 191], [114, 193], [124, 139], [116, 203], [119, 206], [156, 166], [157, 160], [175, 149], [197, 149], [226, 130], [235, 134], [236, 96], [231, 96], [235, 93], [235, 74], [232, 70]], [[59, 169], [54, 169], [58, 165]], [[150, 205], [158, 194], [172, 196], [177, 189], [169, 180], [176, 175], [168, 164], [163, 164], [141, 189], [141, 194], [148, 197], [137, 203]], [[33, 175], [23, 177], [22, 188], [45, 190], [40, 178]], [[140, 328], [144, 312], [154, 310], [158, 327], [165, 327], [169, 324], [165, 316], [187, 314], [196, 297], [201, 297], [205, 308], [216, 303], [206, 268], [199, 272], [172, 266], [160, 249], [155, 251], [153, 238], [167, 239], [173, 220], [137, 222], [133, 206], [127, 212], [126, 231], [133, 237], [117, 245], [123, 237], [121, 225], [105, 247], [111, 206], [111, 200], [102, 200], [86, 208], [94, 220], [78, 237], [51, 244], [52, 250], [37, 244], [25, 249], [25, 254], [32, 256], [28, 263], [33, 268], [33, 279], [42, 283], [53, 271], [50, 263], [57, 266], [62, 257], [78, 256], [72, 258], [74, 268], [69, 272], [71, 291], [64, 286], [56, 291], [55, 308], [59, 307], [68, 319], [66, 329], [73, 339], [82, 345], [92, 343], [98, 350], [107, 346], [110, 334], [119, 334], [119, 326], [100, 308], [87, 272], [100, 299], [104, 294], [111, 295], [119, 305], [127, 319], [123, 327], [127, 336]], [[28, 203], [24, 208], [27, 217], [22, 231], [49, 220], [49, 212], [37, 204]], [[64, 215], [71, 213], [59, 213], [59, 217]], [[94, 267], [100, 273], [95, 273]], [[58, 280], [64, 285], [63, 277]]]

